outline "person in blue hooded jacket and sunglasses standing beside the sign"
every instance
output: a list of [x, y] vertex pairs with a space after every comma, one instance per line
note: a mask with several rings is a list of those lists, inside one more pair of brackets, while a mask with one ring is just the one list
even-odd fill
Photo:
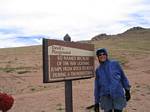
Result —
[[100, 65], [96, 69], [95, 78], [95, 112], [99, 106], [104, 112], [122, 112], [130, 100], [130, 84], [120, 64], [108, 59], [105, 48], [96, 51]]

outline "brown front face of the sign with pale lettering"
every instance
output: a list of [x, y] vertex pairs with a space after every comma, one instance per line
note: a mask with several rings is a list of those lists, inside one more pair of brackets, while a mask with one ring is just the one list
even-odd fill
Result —
[[47, 40], [48, 82], [93, 77], [94, 46]]

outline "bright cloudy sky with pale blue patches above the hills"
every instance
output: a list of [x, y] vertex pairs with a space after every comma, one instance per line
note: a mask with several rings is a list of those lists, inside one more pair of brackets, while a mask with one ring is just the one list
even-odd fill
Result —
[[0, 48], [150, 28], [150, 0], [0, 0]]

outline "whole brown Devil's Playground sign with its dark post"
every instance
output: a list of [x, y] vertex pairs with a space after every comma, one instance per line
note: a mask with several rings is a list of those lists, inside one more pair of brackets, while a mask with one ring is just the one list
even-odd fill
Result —
[[43, 83], [65, 81], [66, 112], [73, 112], [72, 80], [94, 77], [94, 45], [66, 36], [65, 41], [43, 39]]

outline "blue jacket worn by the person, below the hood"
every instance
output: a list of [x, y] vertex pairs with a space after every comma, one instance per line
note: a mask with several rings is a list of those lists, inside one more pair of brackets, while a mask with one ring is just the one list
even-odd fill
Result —
[[129, 81], [117, 61], [106, 60], [96, 69], [95, 103], [100, 103], [101, 96], [112, 98], [125, 97], [124, 89], [130, 89]]

